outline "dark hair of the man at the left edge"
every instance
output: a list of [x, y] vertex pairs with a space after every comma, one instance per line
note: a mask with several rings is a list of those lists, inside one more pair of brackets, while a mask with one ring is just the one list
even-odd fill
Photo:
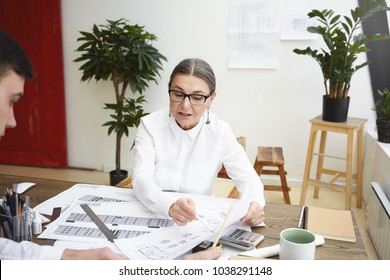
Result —
[[0, 28], [0, 79], [9, 70], [24, 77], [34, 78], [31, 61], [22, 47]]

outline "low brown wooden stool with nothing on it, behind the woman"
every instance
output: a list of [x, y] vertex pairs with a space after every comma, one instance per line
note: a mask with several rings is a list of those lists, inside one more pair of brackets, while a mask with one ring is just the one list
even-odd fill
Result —
[[[288, 193], [290, 188], [287, 186], [287, 172], [284, 170], [284, 157], [281, 147], [258, 147], [257, 156], [253, 167], [259, 176], [261, 174], [279, 175], [281, 185], [264, 185], [264, 190], [282, 191], [284, 201], [287, 204], [291, 204], [290, 195]], [[264, 167], [276, 167], [277, 170], [272, 168], [264, 169]]]

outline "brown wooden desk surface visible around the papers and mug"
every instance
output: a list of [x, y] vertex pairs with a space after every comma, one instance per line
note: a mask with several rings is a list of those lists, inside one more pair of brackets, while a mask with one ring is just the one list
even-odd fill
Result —
[[[35, 207], [39, 203], [51, 198], [69, 187], [75, 182], [65, 182], [57, 180], [46, 180], [29, 177], [16, 177], [0, 174], [0, 192], [4, 193], [5, 188], [11, 187], [12, 183], [33, 182], [36, 183], [32, 189], [24, 195], [30, 196], [31, 206]], [[298, 205], [287, 205], [279, 203], [268, 203], [266, 205], [266, 227], [253, 228], [253, 231], [259, 232], [265, 236], [265, 239], [258, 248], [271, 246], [279, 243], [279, 233], [288, 227], [296, 227], [298, 224], [301, 207]], [[325, 244], [317, 247], [316, 259], [367, 259], [367, 253], [361, 238], [359, 228], [354, 219], [356, 242], [345, 242], [326, 239]], [[35, 241], [35, 239], [34, 239]], [[43, 244], [44, 241], [36, 240]]]

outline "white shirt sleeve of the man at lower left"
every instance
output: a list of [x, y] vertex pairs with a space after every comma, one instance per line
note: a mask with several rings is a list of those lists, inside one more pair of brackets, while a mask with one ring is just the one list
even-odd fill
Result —
[[59, 260], [63, 252], [63, 248], [0, 238], [0, 260]]

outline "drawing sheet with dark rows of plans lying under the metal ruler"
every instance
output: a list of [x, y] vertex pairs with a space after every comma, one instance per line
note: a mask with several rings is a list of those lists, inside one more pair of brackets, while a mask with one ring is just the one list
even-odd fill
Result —
[[[107, 238], [88, 217], [80, 204], [74, 202], [60, 217], [49, 224], [38, 238], [101, 243]], [[103, 223], [117, 238], [132, 238], [164, 227], [172, 227], [173, 220], [150, 212], [140, 202], [88, 203]]]

